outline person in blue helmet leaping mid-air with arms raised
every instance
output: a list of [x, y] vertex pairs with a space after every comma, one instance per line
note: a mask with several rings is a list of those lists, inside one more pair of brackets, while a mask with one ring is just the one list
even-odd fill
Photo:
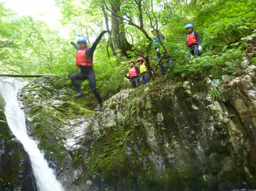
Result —
[[95, 97], [97, 98], [100, 104], [100, 109], [102, 111], [104, 110], [104, 105], [102, 105], [100, 94], [96, 91], [96, 79], [95, 79], [94, 71], [92, 69], [92, 66], [93, 66], [92, 60], [93, 60], [93, 53], [97, 47], [97, 44], [99, 43], [99, 41], [101, 40], [101, 37], [106, 32], [110, 32], [110, 31], [102, 31], [101, 34], [97, 37], [97, 39], [93, 43], [91, 48], [87, 48], [87, 39], [84, 37], [80, 37], [77, 40], [77, 43], [79, 44], [79, 46], [77, 46], [74, 42], [71, 42], [71, 44], [74, 45], [74, 47], [78, 50], [76, 53], [76, 66], [79, 66], [81, 70], [80, 72], [74, 73], [70, 76], [72, 83], [78, 90], [78, 94], [74, 95], [73, 97], [81, 98], [84, 96], [78, 80], [88, 79], [90, 88], [94, 93]]

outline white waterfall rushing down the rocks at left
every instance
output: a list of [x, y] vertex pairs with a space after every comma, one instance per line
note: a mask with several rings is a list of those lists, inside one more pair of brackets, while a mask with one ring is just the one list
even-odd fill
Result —
[[43, 153], [37, 148], [37, 144], [28, 137], [25, 126], [23, 110], [20, 109], [17, 93], [26, 82], [15, 79], [0, 78], [0, 93], [6, 102], [5, 115], [11, 132], [23, 144], [25, 151], [29, 154], [34, 176], [39, 191], [63, 191], [63, 187], [56, 179], [54, 172], [49, 168]]

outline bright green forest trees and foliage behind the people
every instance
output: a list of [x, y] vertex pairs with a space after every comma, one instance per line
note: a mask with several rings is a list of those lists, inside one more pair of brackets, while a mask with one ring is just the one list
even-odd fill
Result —
[[[166, 78], [197, 78], [225, 62], [232, 71], [245, 53], [255, 54], [256, 5], [253, 0], [55, 0], [61, 8], [62, 25], [69, 37], [61, 38], [58, 30], [32, 17], [20, 17], [0, 3], [0, 73], [58, 74], [70, 76], [78, 71], [76, 50], [71, 41], [84, 36], [90, 46], [103, 30], [103, 36], [94, 53], [97, 88], [104, 98], [129, 87], [124, 80], [128, 61], [138, 57], [147, 59], [160, 76], [159, 65], [164, 57], [175, 62]], [[54, 19], [54, 18], [53, 18]], [[200, 34], [202, 51], [199, 58], [189, 59], [185, 26], [192, 23]], [[156, 57], [151, 34], [163, 34], [161, 59]], [[159, 36], [159, 35], [158, 35]], [[246, 52], [247, 50], [247, 52]], [[250, 57], [255, 64], [255, 57]], [[87, 82], [83, 83], [84, 91]]]

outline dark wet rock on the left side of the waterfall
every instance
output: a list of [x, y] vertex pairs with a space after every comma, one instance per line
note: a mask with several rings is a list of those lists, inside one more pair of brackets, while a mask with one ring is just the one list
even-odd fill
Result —
[[3, 107], [0, 95], [0, 190], [36, 191], [29, 156], [11, 134]]

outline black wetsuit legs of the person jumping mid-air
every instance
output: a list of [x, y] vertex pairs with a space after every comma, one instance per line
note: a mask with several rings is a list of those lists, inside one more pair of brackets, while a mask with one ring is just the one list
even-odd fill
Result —
[[95, 74], [94, 74], [92, 67], [80, 66], [80, 69], [81, 69], [81, 72], [74, 73], [70, 76], [72, 83], [74, 84], [74, 86], [76, 87], [76, 89], [79, 93], [83, 93], [78, 80], [88, 79], [92, 92], [94, 93], [95, 97], [97, 98], [99, 104], [102, 105], [101, 96], [96, 91], [96, 79], [95, 79]]

